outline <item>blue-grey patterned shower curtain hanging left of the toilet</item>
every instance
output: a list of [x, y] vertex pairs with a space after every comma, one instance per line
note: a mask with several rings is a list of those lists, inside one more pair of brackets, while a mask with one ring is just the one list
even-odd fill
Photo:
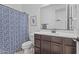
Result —
[[28, 40], [28, 14], [0, 5], [0, 53], [15, 53]]

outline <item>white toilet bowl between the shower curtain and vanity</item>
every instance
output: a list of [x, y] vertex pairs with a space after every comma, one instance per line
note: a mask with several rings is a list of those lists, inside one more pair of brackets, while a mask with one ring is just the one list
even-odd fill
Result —
[[25, 54], [32, 54], [33, 53], [33, 44], [31, 41], [24, 42], [22, 44], [22, 49]]

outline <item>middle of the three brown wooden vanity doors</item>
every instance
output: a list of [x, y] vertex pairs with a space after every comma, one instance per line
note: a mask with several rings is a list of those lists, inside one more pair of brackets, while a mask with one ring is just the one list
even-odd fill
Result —
[[51, 43], [51, 53], [52, 54], [62, 54], [63, 46], [57, 43]]

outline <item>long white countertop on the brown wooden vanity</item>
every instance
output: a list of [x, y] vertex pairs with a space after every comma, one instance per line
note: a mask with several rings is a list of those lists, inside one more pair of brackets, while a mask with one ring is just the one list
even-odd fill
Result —
[[40, 31], [40, 32], [35, 32], [34, 34], [42, 34], [42, 35], [49, 35], [49, 36], [59, 36], [59, 37], [67, 37], [67, 38], [77, 38], [76, 34], [67, 33], [67, 32], [52, 33], [51, 31]]

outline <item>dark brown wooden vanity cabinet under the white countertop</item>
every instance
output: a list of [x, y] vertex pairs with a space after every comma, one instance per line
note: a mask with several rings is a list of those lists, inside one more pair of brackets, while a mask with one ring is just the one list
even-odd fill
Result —
[[72, 38], [34, 35], [35, 54], [75, 54], [76, 42]]

